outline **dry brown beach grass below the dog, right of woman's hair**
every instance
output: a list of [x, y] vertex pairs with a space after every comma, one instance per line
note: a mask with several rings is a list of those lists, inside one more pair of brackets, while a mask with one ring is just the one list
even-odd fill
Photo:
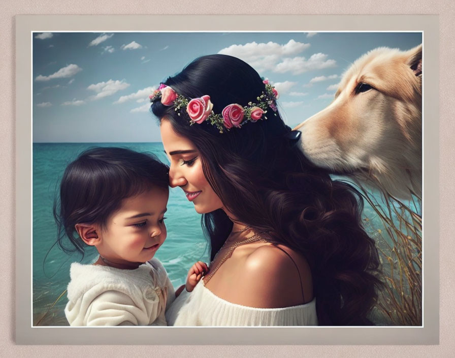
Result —
[[379, 291], [372, 320], [378, 325], [422, 324], [422, 218], [421, 199], [403, 202], [382, 195], [382, 202], [360, 187], [374, 217], [364, 216], [367, 232], [376, 241], [381, 262]]

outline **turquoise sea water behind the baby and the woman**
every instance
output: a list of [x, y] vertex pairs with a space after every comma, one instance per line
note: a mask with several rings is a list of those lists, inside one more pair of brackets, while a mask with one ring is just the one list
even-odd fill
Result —
[[[36, 325], [68, 325], [64, 316], [67, 303], [66, 289], [70, 275], [70, 264], [74, 261], [91, 263], [98, 254], [87, 248], [82, 258], [62, 252], [56, 243], [57, 227], [52, 206], [58, 193], [59, 180], [66, 166], [78, 154], [93, 146], [120, 146], [138, 152], [154, 153], [161, 161], [169, 164], [159, 143], [33, 143], [33, 224], [32, 224], [32, 270], [33, 270], [33, 322]], [[380, 195], [373, 194], [380, 203]], [[409, 203], [408, 203], [409, 204]], [[415, 209], [421, 212], [420, 208]], [[170, 189], [168, 212], [166, 213], [168, 236], [165, 244], [157, 251], [157, 257], [166, 267], [175, 287], [184, 284], [189, 267], [198, 260], [209, 261], [208, 244], [201, 228], [201, 215], [196, 213], [180, 188]], [[379, 236], [387, 241], [384, 230], [377, 230], [383, 224], [373, 208], [365, 202], [362, 214], [368, 220], [366, 229], [370, 236]], [[366, 219], [368, 218], [368, 219]], [[366, 222], [367, 223], [367, 222]], [[379, 232], [379, 233], [378, 233]], [[43, 318], [44, 317], [44, 318]]]

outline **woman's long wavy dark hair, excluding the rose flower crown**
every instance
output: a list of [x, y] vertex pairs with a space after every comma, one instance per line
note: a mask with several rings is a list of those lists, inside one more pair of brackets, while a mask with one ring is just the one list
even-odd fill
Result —
[[[209, 55], [195, 59], [165, 84], [187, 98], [209, 95], [213, 111], [242, 106], [265, 92], [257, 72], [240, 59]], [[367, 314], [377, 297], [375, 243], [361, 224], [363, 200], [349, 184], [333, 181], [287, 138], [279, 112], [220, 134], [209, 123], [189, 125], [186, 114], [159, 101], [151, 110], [201, 152], [204, 174], [228, 210], [264, 238], [304, 255], [313, 277], [322, 325], [372, 324]], [[218, 209], [203, 215], [211, 257], [232, 222]]]

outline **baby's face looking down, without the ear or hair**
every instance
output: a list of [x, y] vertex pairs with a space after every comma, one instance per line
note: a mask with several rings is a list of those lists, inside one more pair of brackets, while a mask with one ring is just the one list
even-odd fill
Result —
[[122, 200], [101, 230], [100, 255], [116, 263], [150, 260], [166, 240], [168, 197], [168, 190], [154, 188]]

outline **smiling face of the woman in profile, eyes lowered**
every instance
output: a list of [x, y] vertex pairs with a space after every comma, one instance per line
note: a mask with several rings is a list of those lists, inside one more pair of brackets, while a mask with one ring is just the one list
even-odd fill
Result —
[[169, 184], [180, 187], [199, 214], [213, 212], [223, 206], [202, 170], [201, 154], [189, 139], [175, 133], [171, 123], [161, 120], [161, 140], [169, 160]]

